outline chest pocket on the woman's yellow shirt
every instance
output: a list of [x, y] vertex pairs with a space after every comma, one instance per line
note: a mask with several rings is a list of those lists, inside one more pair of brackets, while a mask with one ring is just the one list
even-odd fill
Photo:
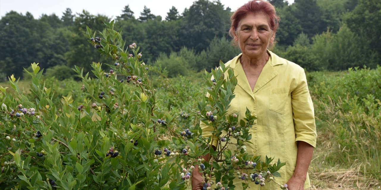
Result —
[[289, 91], [290, 87], [272, 89], [269, 95], [269, 109], [283, 114]]

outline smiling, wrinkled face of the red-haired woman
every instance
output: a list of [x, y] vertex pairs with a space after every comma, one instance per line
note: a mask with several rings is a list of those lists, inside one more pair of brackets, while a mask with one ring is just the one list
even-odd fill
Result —
[[243, 55], [257, 59], [266, 55], [266, 49], [275, 37], [269, 21], [269, 17], [263, 13], [249, 13], [241, 19], [234, 32], [234, 40]]

